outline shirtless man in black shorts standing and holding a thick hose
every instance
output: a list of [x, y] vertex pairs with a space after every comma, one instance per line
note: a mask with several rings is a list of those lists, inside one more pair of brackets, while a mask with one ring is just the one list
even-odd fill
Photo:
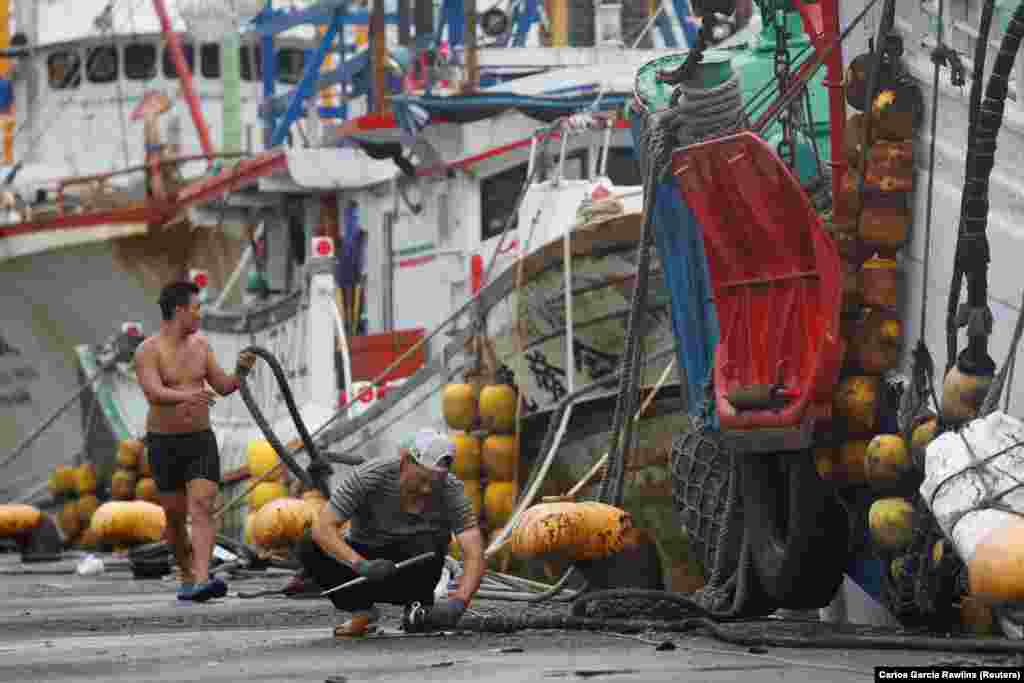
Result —
[[[210, 579], [216, 536], [212, 513], [220, 483], [210, 407], [217, 394], [226, 396], [239, 388], [239, 373], [247, 372], [256, 356], [242, 353], [234, 375], [221, 369], [209, 341], [197, 334], [199, 288], [191, 283], [165, 287], [160, 310], [164, 321], [160, 332], [135, 351], [135, 374], [150, 401], [145, 420], [150, 465], [167, 514], [167, 540], [182, 572], [178, 599], [203, 602], [227, 594], [223, 581]], [[185, 527], [188, 514], [191, 544]]]

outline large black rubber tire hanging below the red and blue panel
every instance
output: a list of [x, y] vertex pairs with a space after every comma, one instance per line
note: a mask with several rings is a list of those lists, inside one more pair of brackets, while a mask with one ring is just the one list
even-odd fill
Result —
[[788, 609], [827, 605], [850, 560], [846, 509], [810, 452], [740, 458], [743, 519], [764, 591]]

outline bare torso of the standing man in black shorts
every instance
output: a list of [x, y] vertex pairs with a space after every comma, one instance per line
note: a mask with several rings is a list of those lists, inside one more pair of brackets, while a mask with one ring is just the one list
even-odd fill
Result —
[[200, 334], [172, 339], [163, 333], [139, 346], [136, 369], [140, 375], [159, 375], [160, 383], [189, 396], [179, 402], [150, 400], [147, 432], [179, 434], [210, 428], [210, 405], [215, 394], [206, 386], [210, 370], [210, 343]]

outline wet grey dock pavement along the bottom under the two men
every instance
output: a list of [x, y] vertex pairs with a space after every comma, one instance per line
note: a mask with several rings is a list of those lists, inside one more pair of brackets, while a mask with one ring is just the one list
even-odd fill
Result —
[[[871, 681], [877, 666], [1024, 661], [951, 652], [751, 651], [703, 636], [654, 632], [406, 635], [397, 631], [397, 607], [384, 609], [382, 635], [336, 641], [332, 629], [340, 615], [327, 600], [237, 597], [239, 590], [284, 586], [284, 572], [253, 572], [231, 581], [227, 598], [189, 604], [177, 602], [171, 581], [132, 579], [123, 560], [98, 577], [76, 575], [74, 564], [22, 565], [17, 555], [0, 555], [0, 681], [618, 683], [784, 676], [809, 683]], [[473, 608], [522, 610], [521, 603], [496, 601], [477, 601]]]

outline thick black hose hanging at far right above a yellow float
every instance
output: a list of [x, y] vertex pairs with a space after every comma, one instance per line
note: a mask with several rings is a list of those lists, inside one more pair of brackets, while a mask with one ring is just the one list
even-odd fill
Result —
[[[988, 310], [988, 181], [995, 165], [995, 140], [1002, 126], [1002, 114], [1010, 88], [1014, 60], [1024, 40], [1024, 1], [1017, 6], [1007, 27], [999, 52], [992, 63], [992, 74], [985, 88], [985, 98], [978, 110], [976, 138], [968, 150], [967, 181], [964, 186], [964, 230], [959, 236], [957, 264], [967, 275], [968, 345], [956, 362], [973, 374], [991, 374], [995, 364], [988, 355], [991, 312]], [[980, 329], [979, 329], [980, 328]]]

